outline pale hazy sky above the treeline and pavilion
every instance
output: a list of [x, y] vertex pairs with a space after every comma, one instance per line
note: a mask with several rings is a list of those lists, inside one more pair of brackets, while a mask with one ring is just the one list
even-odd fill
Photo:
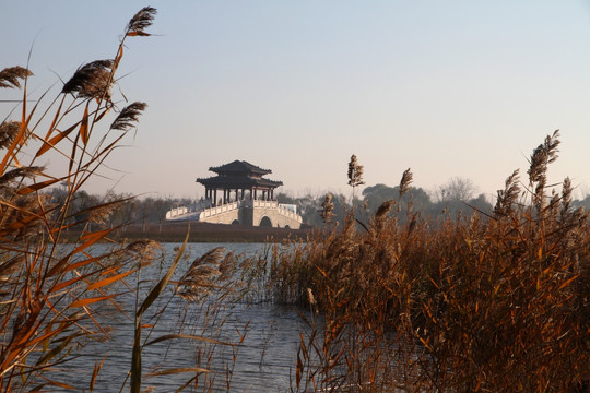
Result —
[[354, 153], [367, 184], [411, 167], [415, 186], [492, 195], [555, 129], [550, 181], [590, 192], [590, 1], [4, 0], [0, 69], [33, 47], [38, 96], [113, 58], [144, 5], [154, 36], [128, 40], [119, 86], [149, 108], [109, 162], [119, 192], [201, 195], [234, 159], [294, 194], [347, 192]]

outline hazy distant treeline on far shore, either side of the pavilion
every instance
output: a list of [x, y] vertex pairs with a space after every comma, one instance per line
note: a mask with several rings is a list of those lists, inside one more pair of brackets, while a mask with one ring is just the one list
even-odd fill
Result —
[[[323, 225], [320, 211], [321, 204], [328, 193], [318, 195], [292, 196], [286, 193], [279, 193], [276, 199], [280, 203], [294, 204], [297, 213], [302, 215], [304, 224], [307, 226]], [[67, 193], [61, 189], [52, 191], [52, 199], [56, 203], [62, 203]], [[448, 215], [456, 218], [458, 215], [469, 216], [474, 211], [486, 215], [494, 207], [492, 195], [475, 195], [474, 187], [469, 180], [455, 178], [445, 187], [440, 187], [434, 192], [426, 192], [422, 188], [412, 188], [401, 200], [399, 199], [399, 187], [386, 184], [375, 184], [366, 187], [361, 195], [343, 193], [331, 193], [333, 209], [333, 222], [342, 223], [346, 212], [354, 207], [355, 216], [363, 223], [368, 223], [377, 209], [388, 200], [396, 201], [396, 209], [390, 214], [398, 214], [400, 219], [404, 219], [408, 206], [412, 212], [422, 214], [425, 218], [438, 218]], [[122, 203], [110, 205], [111, 201], [123, 200]], [[166, 212], [179, 206], [191, 206], [197, 201], [190, 198], [132, 198], [127, 194], [108, 193], [106, 195], [90, 194], [80, 191], [74, 194], [71, 203], [71, 222], [82, 222], [92, 214], [91, 222], [101, 226], [116, 226], [125, 224], [154, 225], [166, 222]], [[104, 204], [105, 207], [97, 214], [90, 206]], [[590, 194], [582, 200], [573, 201], [574, 207], [583, 206], [590, 210]], [[92, 212], [92, 213], [91, 213]]]

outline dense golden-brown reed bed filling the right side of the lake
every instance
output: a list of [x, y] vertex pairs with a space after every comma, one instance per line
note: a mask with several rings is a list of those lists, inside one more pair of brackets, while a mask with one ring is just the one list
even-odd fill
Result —
[[589, 216], [571, 209], [569, 179], [547, 186], [558, 136], [534, 150], [527, 182], [507, 179], [491, 216], [429, 222], [410, 205], [401, 221], [391, 200], [278, 253], [275, 298], [311, 308], [293, 389], [588, 389]]

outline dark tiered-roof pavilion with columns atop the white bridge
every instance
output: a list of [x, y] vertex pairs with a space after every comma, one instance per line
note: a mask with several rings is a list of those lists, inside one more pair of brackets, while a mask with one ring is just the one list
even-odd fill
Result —
[[[205, 187], [205, 199], [210, 200], [213, 206], [234, 201], [249, 200], [274, 200], [274, 189], [283, 186], [282, 181], [264, 179], [264, 175], [272, 174], [272, 170], [262, 169], [245, 160], [232, 162], [219, 167], [210, 167], [209, 170], [217, 174], [210, 178], [198, 178]], [[223, 192], [223, 196], [217, 199], [217, 190]], [[233, 196], [233, 198], [232, 198]]]

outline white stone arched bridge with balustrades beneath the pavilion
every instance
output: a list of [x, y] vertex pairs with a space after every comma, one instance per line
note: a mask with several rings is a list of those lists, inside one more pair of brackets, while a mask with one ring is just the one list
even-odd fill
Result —
[[295, 205], [266, 200], [240, 200], [205, 209], [177, 207], [166, 213], [166, 219], [293, 229], [299, 229], [303, 223]]

